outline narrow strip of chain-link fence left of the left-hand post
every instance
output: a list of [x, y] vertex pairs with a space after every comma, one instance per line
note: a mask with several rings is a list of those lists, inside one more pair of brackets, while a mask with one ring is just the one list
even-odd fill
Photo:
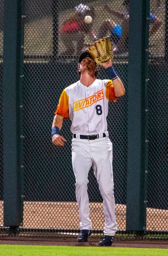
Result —
[[[3, 226], [3, 129], [2, 129], [2, 77], [3, 77], [3, 25], [4, 1], [0, 1], [0, 226]], [[1, 229], [0, 229], [1, 233]]]

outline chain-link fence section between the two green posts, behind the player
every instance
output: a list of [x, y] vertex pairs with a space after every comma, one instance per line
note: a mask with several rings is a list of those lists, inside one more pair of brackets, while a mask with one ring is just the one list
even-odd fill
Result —
[[[70, 122], [66, 120], [61, 129], [61, 134], [68, 140], [64, 148], [52, 145], [51, 122], [62, 90], [78, 80], [79, 54], [96, 39], [96, 35], [103, 36], [107, 21], [102, 12], [108, 6], [101, 1], [99, 7], [95, 2], [81, 4], [72, 1], [66, 4], [66, 9], [63, 1], [59, 5], [57, 1], [32, 4], [34, 12], [30, 1], [25, 1], [23, 227], [75, 231], [79, 230], [79, 214], [71, 164]], [[115, 4], [117, 6], [117, 1]], [[119, 4], [122, 6], [122, 2]], [[34, 16], [34, 13], [38, 15]], [[91, 25], [84, 23], [84, 16], [89, 14], [93, 17]], [[107, 18], [111, 18], [110, 12]], [[99, 24], [102, 24], [101, 28]], [[114, 26], [110, 22], [108, 26], [106, 34], [110, 35]], [[114, 66], [127, 87], [126, 63], [127, 57], [123, 64], [119, 64], [116, 55]], [[98, 78], [106, 78], [103, 69], [99, 70]], [[125, 230], [127, 93], [118, 103], [110, 105], [108, 131], [114, 147], [118, 229]], [[88, 193], [93, 230], [102, 233], [102, 197], [92, 170], [89, 172]]]

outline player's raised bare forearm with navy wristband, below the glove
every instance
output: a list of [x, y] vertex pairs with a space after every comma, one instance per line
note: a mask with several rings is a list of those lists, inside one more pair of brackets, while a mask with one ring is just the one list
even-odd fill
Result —
[[112, 61], [102, 63], [103, 68], [107, 70], [109, 79], [113, 81], [113, 86], [115, 90], [115, 97], [121, 97], [125, 94], [125, 88], [121, 79], [117, 76], [114, 68], [112, 67]]

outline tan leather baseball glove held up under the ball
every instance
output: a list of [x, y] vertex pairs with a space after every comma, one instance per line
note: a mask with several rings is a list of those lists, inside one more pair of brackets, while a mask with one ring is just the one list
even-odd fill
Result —
[[113, 61], [113, 49], [109, 36], [104, 36], [98, 41], [95, 41], [85, 49], [85, 51], [88, 52], [101, 67], [103, 62], [110, 59]]

